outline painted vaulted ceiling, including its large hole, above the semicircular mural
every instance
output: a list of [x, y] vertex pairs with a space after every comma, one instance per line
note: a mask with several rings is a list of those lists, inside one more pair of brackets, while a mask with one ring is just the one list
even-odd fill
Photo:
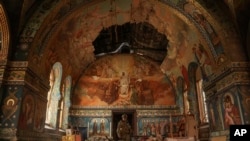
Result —
[[229, 52], [246, 50], [239, 48], [239, 40], [246, 40], [247, 0], [5, 0], [3, 4], [12, 30], [10, 57], [29, 60], [31, 69], [44, 77], [59, 61], [63, 77], [72, 75], [76, 81], [90, 63], [112, 53], [149, 57], [169, 74], [178, 67], [176, 60], [185, 66], [193, 61], [196, 44], [208, 52], [214, 70], [226, 60], [246, 60]]

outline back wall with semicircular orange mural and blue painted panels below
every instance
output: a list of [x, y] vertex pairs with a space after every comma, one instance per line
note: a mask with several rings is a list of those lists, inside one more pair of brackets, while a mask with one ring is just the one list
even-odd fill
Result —
[[[173, 122], [181, 119], [183, 104], [176, 96], [175, 84], [160, 71], [159, 63], [136, 54], [104, 56], [80, 77], [72, 96], [70, 123], [87, 128], [88, 137], [115, 137], [117, 122], [126, 113], [134, 135], [151, 135], [144, 131], [147, 124], [167, 125], [170, 117]], [[105, 131], [93, 131], [96, 122], [104, 122]]]

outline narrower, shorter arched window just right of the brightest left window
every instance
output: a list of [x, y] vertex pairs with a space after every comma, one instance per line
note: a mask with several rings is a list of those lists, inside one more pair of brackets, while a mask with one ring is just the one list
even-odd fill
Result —
[[67, 76], [64, 81], [64, 87], [63, 87], [63, 99], [61, 104], [61, 120], [60, 120], [60, 128], [66, 129], [68, 127], [68, 116], [69, 116], [69, 107], [71, 105], [70, 103], [70, 93], [71, 93], [71, 76]]

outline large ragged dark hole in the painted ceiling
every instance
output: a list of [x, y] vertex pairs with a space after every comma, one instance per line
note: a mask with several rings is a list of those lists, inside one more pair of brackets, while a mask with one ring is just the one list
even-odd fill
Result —
[[125, 23], [103, 29], [93, 41], [95, 55], [136, 53], [162, 62], [168, 39], [147, 22]]

